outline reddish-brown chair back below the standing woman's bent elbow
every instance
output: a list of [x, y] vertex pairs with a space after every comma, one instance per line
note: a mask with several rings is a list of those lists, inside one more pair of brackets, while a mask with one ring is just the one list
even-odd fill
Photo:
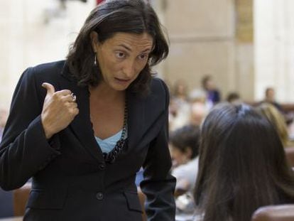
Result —
[[26, 210], [26, 202], [30, 195], [31, 183], [26, 183], [21, 188], [13, 190], [13, 209], [15, 216], [23, 216]]

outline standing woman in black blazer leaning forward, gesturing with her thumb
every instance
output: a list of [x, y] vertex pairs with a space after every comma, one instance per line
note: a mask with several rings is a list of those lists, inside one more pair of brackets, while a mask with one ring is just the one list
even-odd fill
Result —
[[[85, 21], [67, 60], [28, 68], [0, 145], [0, 185], [32, 177], [24, 220], [175, 220], [165, 83], [168, 55], [145, 1], [110, 0]], [[44, 87], [44, 88], [42, 88]]]

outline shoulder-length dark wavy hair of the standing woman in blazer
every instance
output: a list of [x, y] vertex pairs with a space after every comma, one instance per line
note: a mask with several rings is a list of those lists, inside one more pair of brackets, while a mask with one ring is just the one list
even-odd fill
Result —
[[143, 0], [109, 0], [92, 10], [67, 55], [67, 65], [80, 86], [95, 87], [100, 80], [99, 65], [94, 65], [90, 38], [92, 31], [98, 33], [99, 43], [104, 43], [119, 32], [148, 33], [153, 38], [148, 63], [129, 87], [132, 92], [146, 95], [154, 75], [151, 67], [168, 55], [168, 43], [151, 5]]

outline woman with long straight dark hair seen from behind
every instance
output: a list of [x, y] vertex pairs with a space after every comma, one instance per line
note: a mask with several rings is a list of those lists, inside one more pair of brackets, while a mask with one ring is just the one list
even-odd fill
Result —
[[252, 107], [219, 104], [202, 125], [195, 203], [204, 221], [250, 221], [294, 203], [294, 174], [275, 128]]

